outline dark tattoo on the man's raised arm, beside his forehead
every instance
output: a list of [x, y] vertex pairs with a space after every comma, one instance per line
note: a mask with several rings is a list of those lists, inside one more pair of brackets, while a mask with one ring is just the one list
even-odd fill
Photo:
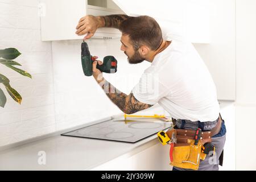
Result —
[[120, 24], [123, 20], [126, 20], [130, 18], [130, 16], [127, 15], [108, 15], [103, 16], [105, 19], [105, 27], [111, 27], [111, 28], [117, 28], [119, 29]]

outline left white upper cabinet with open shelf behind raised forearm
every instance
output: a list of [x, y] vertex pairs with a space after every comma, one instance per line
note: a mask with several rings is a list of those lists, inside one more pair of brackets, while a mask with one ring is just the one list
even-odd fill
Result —
[[[42, 41], [82, 39], [75, 34], [76, 26], [85, 15], [123, 14], [112, 0], [40, 0]], [[94, 38], [114, 39], [121, 32], [114, 28], [98, 28]]]

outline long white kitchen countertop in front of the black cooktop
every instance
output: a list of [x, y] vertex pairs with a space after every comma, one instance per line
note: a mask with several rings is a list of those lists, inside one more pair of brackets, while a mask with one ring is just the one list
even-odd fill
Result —
[[[156, 135], [137, 143], [124, 143], [58, 134], [0, 151], [0, 170], [89, 170], [122, 155], [129, 157], [157, 143]], [[46, 154], [45, 165], [38, 163], [42, 159], [40, 151]]]

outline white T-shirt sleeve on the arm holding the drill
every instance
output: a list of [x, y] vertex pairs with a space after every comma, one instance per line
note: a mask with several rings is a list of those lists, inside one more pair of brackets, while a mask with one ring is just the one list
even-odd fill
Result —
[[161, 83], [158, 73], [143, 73], [132, 92], [138, 101], [155, 105], [160, 98], [167, 96], [168, 88]]

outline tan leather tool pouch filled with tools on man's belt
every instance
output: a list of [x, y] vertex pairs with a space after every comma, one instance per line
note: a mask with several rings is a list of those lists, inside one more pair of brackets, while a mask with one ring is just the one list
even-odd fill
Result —
[[[211, 139], [203, 139], [201, 129], [171, 129], [166, 133], [159, 131], [158, 139], [163, 145], [170, 144], [170, 164], [179, 168], [199, 169], [200, 160], [214, 154]], [[207, 142], [205, 142], [207, 141]], [[213, 151], [213, 152], [210, 152]], [[212, 155], [210, 155], [212, 156]]]

